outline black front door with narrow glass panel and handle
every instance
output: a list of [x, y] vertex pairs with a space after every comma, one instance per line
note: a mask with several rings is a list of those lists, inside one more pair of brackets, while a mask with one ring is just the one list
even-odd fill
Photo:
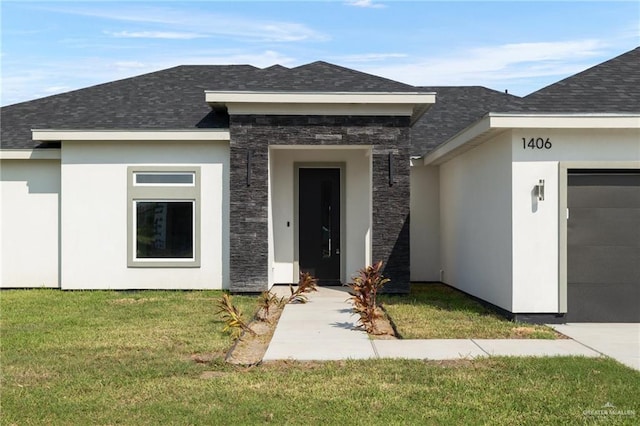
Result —
[[300, 271], [340, 284], [340, 169], [299, 169]]

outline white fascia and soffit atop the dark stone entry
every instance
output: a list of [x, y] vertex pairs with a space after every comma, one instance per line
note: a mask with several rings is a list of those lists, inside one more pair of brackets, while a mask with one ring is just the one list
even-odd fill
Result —
[[213, 108], [230, 114], [401, 115], [417, 121], [436, 102], [433, 92], [205, 91]]

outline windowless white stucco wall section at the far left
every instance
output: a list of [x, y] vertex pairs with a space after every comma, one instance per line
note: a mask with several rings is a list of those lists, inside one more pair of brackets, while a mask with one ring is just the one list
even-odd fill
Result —
[[0, 161], [1, 287], [58, 287], [59, 160]]

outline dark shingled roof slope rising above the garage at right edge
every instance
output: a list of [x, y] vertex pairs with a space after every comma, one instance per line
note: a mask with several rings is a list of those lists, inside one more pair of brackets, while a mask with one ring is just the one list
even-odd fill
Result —
[[524, 98], [536, 112], [640, 112], [640, 47]]

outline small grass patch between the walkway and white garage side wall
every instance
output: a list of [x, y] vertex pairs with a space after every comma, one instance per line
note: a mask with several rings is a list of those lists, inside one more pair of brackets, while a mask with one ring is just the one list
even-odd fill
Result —
[[408, 296], [379, 296], [404, 339], [555, 339], [544, 325], [514, 323], [442, 284], [412, 284]]

